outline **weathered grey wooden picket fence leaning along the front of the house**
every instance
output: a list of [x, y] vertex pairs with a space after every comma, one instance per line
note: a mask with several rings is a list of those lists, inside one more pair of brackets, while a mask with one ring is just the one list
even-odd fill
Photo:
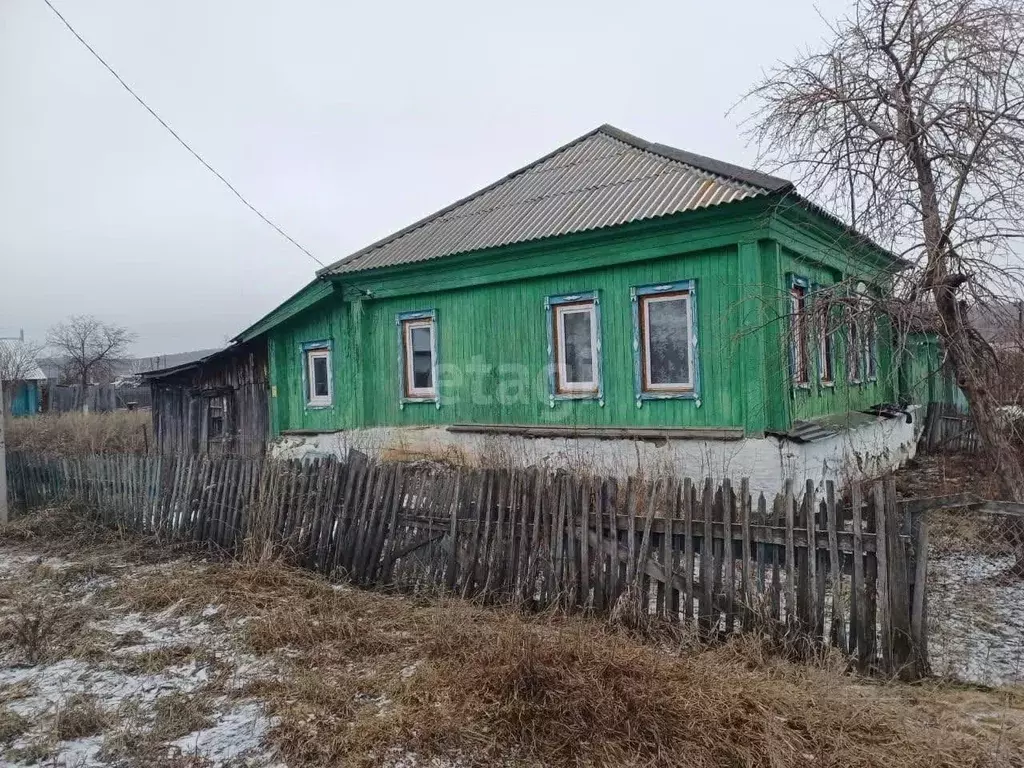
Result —
[[444, 591], [681, 624], [707, 637], [767, 632], [860, 669], [927, 671], [927, 522], [892, 481], [840, 498], [828, 483], [769, 504], [748, 483], [618, 481], [565, 472], [252, 457], [14, 453], [23, 508], [76, 499], [103, 520], [365, 586]]

